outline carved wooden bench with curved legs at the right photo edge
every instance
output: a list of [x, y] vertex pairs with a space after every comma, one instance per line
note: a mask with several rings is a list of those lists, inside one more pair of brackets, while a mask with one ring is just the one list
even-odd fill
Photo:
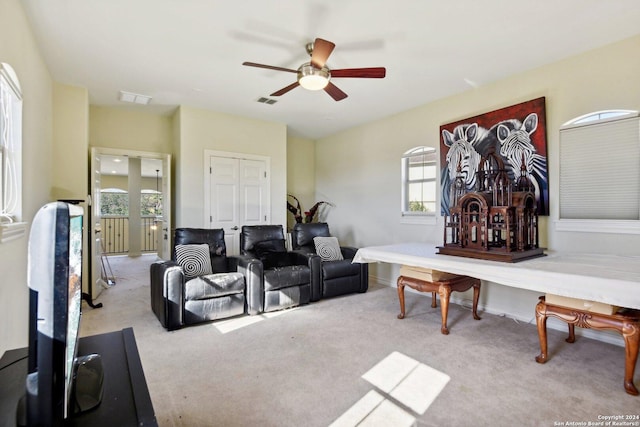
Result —
[[593, 313], [586, 310], [547, 304], [544, 297], [536, 305], [536, 324], [538, 337], [540, 338], [540, 355], [536, 356], [536, 362], [547, 361], [547, 318], [549, 316], [567, 322], [569, 325], [568, 343], [576, 339], [575, 326], [591, 329], [609, 329], [622, 334], [625, 349], [624, 389], [634, 396], [638, 395], [638, 389], [633, 384], [633, 374], [638, 360], [638, 344], [640, 343], [640, 310], [623, 309], [615, 314]]

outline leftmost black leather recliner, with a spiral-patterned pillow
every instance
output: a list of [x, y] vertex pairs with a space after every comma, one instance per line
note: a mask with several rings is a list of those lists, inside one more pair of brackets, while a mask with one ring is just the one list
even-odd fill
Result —
[[261, 265], [227, 257], [222, 229], [176, 229], [171, 261], [150, 270], [151, 308], [169, 330], [258, 312]]

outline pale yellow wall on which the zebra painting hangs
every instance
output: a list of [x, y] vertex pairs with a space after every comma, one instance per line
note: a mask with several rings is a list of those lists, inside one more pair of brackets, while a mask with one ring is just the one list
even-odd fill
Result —
[[[336, 203], [329, 217], [332, 232], [356, 246], [442, 243], [442, 218], [435, 225], [400, 221], [402, 153], [420, 145], [439, 149], [442, 124], [544, 96], [551, 215], [541, 218], [541, 246], [640, 255], [639, 235], [560, 232], [554, 224], [559, 212], [559, 128], [593, 111], [640, 110], [638, 76], [640, 36], [635, 36], [317, 141], [316, 191]], [[603, 155], [607, 144], [615, 141], [603, 145]], [[615, 182], [615, 177], [602, 178]], [[388, 284], [397, 277], [397, 268], [388, 264], [374, 264], [370, 271]], [[504, 286], [483, 289], [483, 303], [494, 312], [531, 319], [537, 294]]]

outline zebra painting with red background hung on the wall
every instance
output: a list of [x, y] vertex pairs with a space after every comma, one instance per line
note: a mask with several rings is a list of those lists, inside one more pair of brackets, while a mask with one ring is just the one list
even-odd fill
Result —
[[525, 165], [535, 187], [537, 213], [549, 215], [544, 97], [440, 126], [441, 214], [449, 213], [458, 168], [467, 190], [473, 191], [480, 159], [492, 151], [502, 158], [512, 182]]

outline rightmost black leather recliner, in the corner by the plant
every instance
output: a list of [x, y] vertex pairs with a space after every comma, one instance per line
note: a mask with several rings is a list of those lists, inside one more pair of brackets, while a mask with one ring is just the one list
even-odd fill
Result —
[[[329, 225], [324, 222], [297, 223], [293, 226], [293, 249], [320, 255], [320, 297], [328, 298], [353, 292], [366, 292], [369, 288], [369, 265], [352, 263], [357, 248], [338, 246], [337, 239], [314, 241], [316, 237], [330, 238]], [[330, 244], [329, 244], [330, 243]], [[317, 248], [321, 248], [318, 251]], [[342, 259], [339, 259], [342, 258]]]

